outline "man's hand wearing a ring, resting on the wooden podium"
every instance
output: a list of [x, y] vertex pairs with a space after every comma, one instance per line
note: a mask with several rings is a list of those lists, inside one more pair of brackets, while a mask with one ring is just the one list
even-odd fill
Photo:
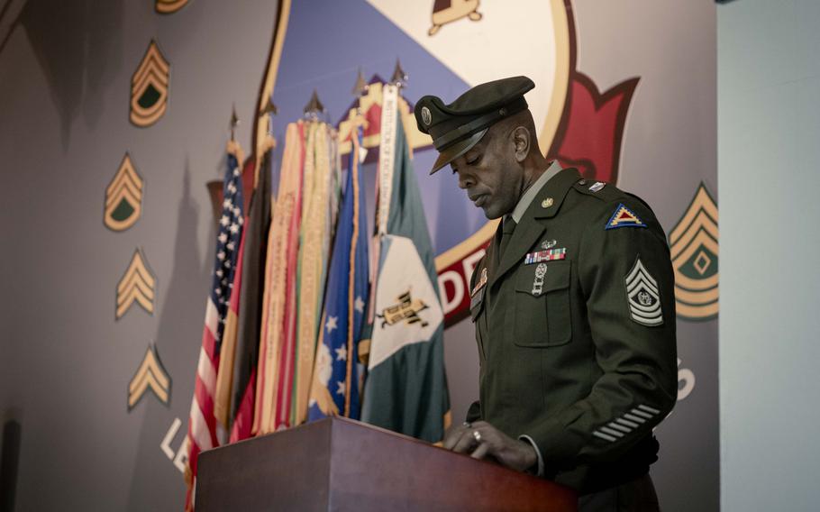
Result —
[[516, 471], [526, 471], [538, 462], [532, 444], [509, 437], [486, 421], [452, 426], [443, 446], [455, 453], [469, 453], [473, 459], [490, 455]]

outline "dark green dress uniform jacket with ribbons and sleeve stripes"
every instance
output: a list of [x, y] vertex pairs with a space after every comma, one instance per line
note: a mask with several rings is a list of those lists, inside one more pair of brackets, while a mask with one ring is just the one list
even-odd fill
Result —
[[581, 494], [644, 474], [678, 392], [670, 251], [651, 209], [563, 169], [470, 282], [480, 361], [468, 421], [528, 436]]

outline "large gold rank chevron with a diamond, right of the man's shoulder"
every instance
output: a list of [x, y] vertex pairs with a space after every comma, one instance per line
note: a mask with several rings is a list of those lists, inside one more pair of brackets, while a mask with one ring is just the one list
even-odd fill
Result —
[[709, 320], [718, 312], [717, 205], [706, 186], [695, 197], [670, 233], [675, 300], [678, 316]]

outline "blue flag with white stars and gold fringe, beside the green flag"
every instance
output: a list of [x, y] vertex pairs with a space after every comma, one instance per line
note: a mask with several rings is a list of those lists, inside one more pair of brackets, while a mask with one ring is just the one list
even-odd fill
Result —
[[369, 291], [364, 197], [360, 154], [354, 144], [328, 271], [308, 421], [360, 416], [357, 360]]

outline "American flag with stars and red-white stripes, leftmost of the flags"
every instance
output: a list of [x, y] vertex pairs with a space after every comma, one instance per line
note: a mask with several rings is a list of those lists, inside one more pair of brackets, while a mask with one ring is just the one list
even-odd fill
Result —
[[214, 273], [205, 305], [205, 329], [202, 333], [202, 349], [196, 367], [194, 399], [188, 421], [187, 510], [193, 509], [196, 459], [200, 452], [220, 444], [221, 435], [217, 435], [217, 422], [214, 416], [214, 390], [244, 223], [242, 201], [241, 168], [236, 156], [229, 152], [228, 170], [223, 181], [222, 215], [219, 218], [219, 233], [216, 234]]

